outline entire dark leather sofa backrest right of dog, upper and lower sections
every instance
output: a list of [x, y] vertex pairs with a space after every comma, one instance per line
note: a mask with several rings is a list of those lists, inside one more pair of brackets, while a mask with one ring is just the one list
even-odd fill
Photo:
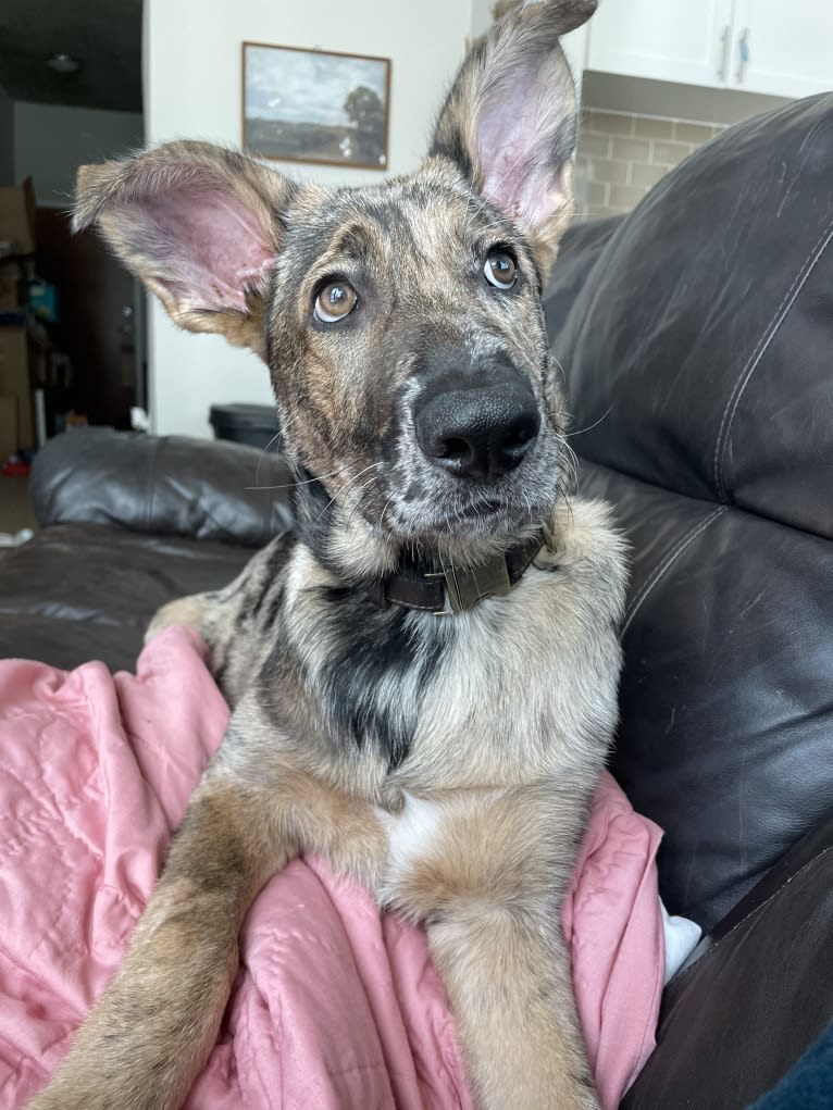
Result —
[[633, 544], [612, 769], [711, 929], [833, 806], [833, 95], [732, 128], [546, 293], [586, 493]]

